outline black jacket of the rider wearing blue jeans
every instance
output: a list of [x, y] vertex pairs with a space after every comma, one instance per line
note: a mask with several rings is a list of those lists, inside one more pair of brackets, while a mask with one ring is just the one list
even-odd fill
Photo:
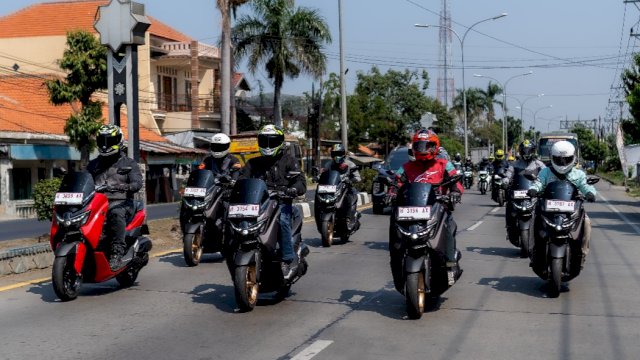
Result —
[[[300, 175], [288, 180], [289, 171], [299, 172]], [[242, 168], [240, 179], [257, 178], [267, 183], [269, 189], [293, 187], [298, 190], [298, 196], [307, 192], [307, 180], [300, 170], [300, 164], [291, 155], [280, 152], [276, 156], [260, 156], [250, 159]]]

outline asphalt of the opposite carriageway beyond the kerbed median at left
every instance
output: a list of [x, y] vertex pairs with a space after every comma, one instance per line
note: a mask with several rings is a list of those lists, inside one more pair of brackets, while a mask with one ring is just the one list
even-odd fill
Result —
[[[313, 200], [315, 190], [309, 190], [306, 200]], [[166, 219], [177, 217], [179, 203], [152, 204], [147, 207], [147, 220]], [[49, 221], [36, 219], [19, 219], [0, 221], [0, 241], [25, 239], [48, 234], [51, 227]]]

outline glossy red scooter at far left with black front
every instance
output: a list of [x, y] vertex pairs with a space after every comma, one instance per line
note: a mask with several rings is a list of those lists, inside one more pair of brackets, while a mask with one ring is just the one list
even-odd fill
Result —
[[50, 238], [55, 252], [52, 281], [62, 301], [78, 297], [83, 282], [99, 283], [115, 277], [121, 286], [131, 286], [149, 262], [151, 240], [144, 236], [149, 234], [147, 215], [144, 204], [135, 201], [134, 215], [127, 219], [124, 265], [115, 271], [109, 267], [111, 242], [103, 234], [109, 208], [106, 195], [101, 193], [105, 190], [106, 186], [95, 186], [91, 174], [74, 172], [65, 175], [56, 193]]

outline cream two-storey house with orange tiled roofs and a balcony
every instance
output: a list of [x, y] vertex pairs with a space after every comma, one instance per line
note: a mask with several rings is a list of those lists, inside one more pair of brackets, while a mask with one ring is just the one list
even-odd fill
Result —
[[[0, 76], [7, 76], [0, 81], [0, 214], [18, 212], [16, 204], [28, 202], [38, 179], [50, 177], [57, 166], [68, 169], [79, 159], [63, 130], [70, 108], [41, 101], [47, 95], [42, 82], [50, 76], [64, 76], [57, 61], [66, 47], [68, 31], [83, 29], [97, 36], [93, 28], [96, 13], [107, 3], [50, 1], [0, 17]], [[147, 13], [153, 14], [152, 5]], [[152, 16], [149, 19], [146, 44], [138, 49], [138, 81], [141, 152], [146, 155], [147, 189], [151, 188], [153, 196], [150, 181], [154, 176], [164, 181], [158, 187], [175, 188], [175, 166], [185, 153], [164, 135], [220, 129], [216, 95], [220, 57], [217, 48]], [[108, 118], [106, 109], [103, 115]], [[186, 149], [188, 155], [194, 152], [199, 153]], [[155, 194], [171, 200], [166, 194]]]

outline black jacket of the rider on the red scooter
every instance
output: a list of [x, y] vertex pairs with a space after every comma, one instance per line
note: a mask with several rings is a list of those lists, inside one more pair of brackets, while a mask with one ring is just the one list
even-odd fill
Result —
[[93, 182], [108, 186], [126, 185], [127, 191], [105, 192], [109, 200], [133, 199], [133, 194], [142, 189], [142, 173], [135, 160], [124, 153], [112, 156], [98, 156], [87, 165]]

